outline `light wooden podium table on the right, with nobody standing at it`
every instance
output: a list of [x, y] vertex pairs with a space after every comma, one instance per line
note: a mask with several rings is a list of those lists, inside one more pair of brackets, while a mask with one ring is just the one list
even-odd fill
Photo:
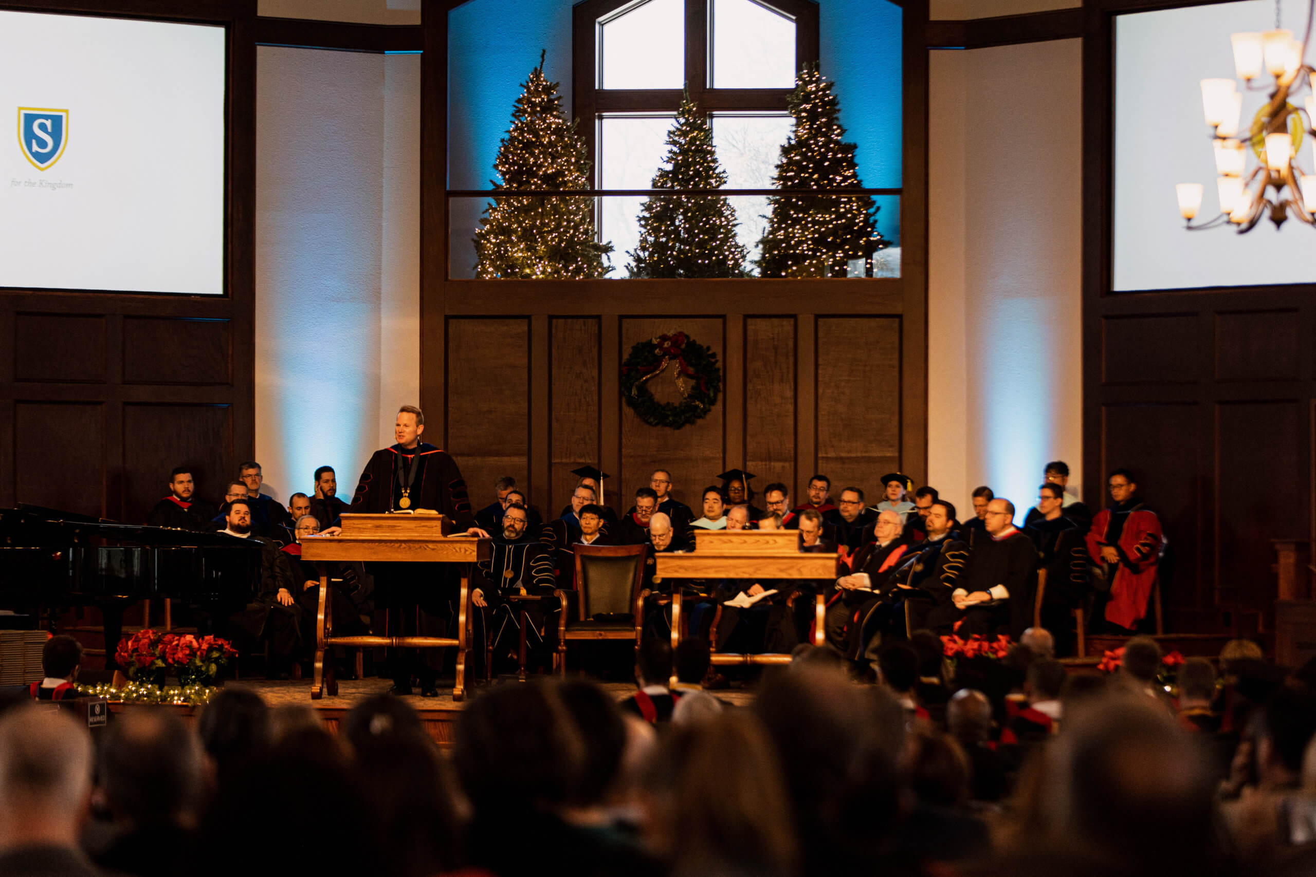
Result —
[[[837, 555], [800, 551], [799, 530], [695, 530], [692, 552], [654, 555], [654, 575], [663, 579], [836, 579]], [[680, 588], [671, 589], [671, 648], [680, 643]], [[719, 615], [721, 614], [721, 606]], [[813, 644], [825, 638], [826, 597], [815, 598]], [[716, 630], [717, 621], [713, 622]], [[709, 643], [715, 648], [715, 643]], [[790, 655], [713, 652], [713, 664], [787, 664]]]

